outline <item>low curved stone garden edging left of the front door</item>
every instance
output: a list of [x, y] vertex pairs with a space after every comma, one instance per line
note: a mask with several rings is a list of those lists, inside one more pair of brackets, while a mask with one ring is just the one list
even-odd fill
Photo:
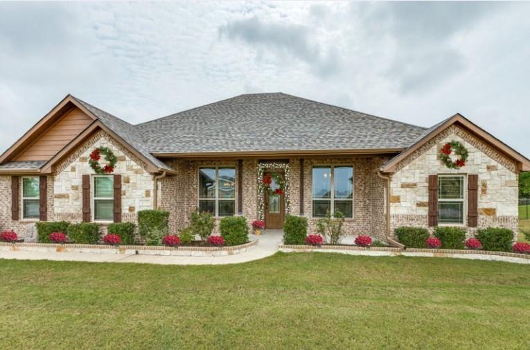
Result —
[[242, 245], [230, 247], [164, 247], [150, 245], [91, 245], [91, 244], [53, 244], [53, 243], [0, 243], [3, 251], [25, 252], [69, 252], [103, 253], [124, 255], [171, 255], [171, 256], [227, 256], [246, 252], [258, 243], [251, 240]]

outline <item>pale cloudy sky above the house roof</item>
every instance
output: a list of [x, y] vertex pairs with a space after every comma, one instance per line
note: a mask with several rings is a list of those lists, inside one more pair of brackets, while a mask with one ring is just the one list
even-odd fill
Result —
[[67, 94], [140, 123], [283, 91], [530, 156], [530, 3], [0, 3], [0, 148]]

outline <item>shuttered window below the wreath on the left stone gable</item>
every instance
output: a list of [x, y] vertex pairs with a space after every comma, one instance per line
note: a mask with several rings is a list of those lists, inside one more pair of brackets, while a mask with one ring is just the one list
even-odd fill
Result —
[[114, 177], [94, 176], [94, 221], [114, 220]]

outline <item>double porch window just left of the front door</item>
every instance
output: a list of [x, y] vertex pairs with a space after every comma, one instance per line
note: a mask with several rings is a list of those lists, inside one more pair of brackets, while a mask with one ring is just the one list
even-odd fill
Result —
[[215, 216], [236, 212], [236, 168], [199, 169], [199, 210]]

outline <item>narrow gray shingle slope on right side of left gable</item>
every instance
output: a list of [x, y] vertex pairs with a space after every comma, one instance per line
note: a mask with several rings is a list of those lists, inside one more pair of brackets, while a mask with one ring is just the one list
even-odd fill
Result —
[[[72, 96], [73, 97], [73, 96]], [[76, 98], [76, 97], [73, 97]], [[110, 130], [116, 132], [119, 137], [125, 140], [125, 142], [129, 143], [130, 146], [134, 147], [138, 152], [141, 153], [145, 158], [149, 159], [149, 161], [152, 162], [155, 166], [159, 168], [163, 168], [166, 170], [171, 170], [171, 168], [166, 165], [163, 161], [153, 157], [150, 152], [145, 148], [145, 143], [143, 142], [142, 138], [138, 134], [138, 131], [134, 128], [133, 125], [130, 123], [127, 123], [126, 121], [123, 121], [119, 119], [116, 116], [113, 116], [112, 114], [109, 114], [103, 110], [100, 110], [98, 107], [94, 107], [93, 105], [86, 103], [83, 100], [80, 100], [79, 98], [76, 98], [79, 103], [81, 103], [87, 110], [92, 112], [96, 118], [99, 119], [103, 125], [105, 125]]]

